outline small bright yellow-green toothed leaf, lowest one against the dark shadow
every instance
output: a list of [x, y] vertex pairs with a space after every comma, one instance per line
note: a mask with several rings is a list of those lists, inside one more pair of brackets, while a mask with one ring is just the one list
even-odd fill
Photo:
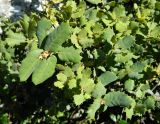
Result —
[[85, 101], [84, 95], [82, 93], [78, 95], [74, 95], [73, 98], [74, 98], [74, 103], [76, 105], [80, 105]]

